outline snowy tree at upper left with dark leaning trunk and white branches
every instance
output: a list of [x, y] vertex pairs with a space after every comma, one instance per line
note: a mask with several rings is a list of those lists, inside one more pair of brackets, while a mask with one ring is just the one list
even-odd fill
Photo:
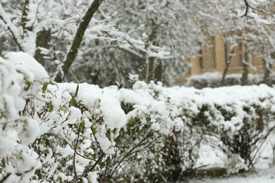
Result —
[[[3, 20], [4, 30], [13, 36], [17, 50], [30, 53], [43, 64], [44, 53], [48, 53], [47, 56], [55, 56], [65, 50], [64, 65], [56, 76], [56, 80], [60, 81], [61, 73], [68, 72], [68, 68], [73, 63], [83, 34], [100, 2], [99, 0], [91, 2], [17, 1], [16, 3], [7, 1], [3, 3], [4, 8], [2, 5], [0, 7], [0, 18]], [[13, 6], [17, 6], [16, 11], [13, 11]], [[87, 13], [82, 20], [82, 13], [85, 11]], [[67, 48], [70, 42], [65, 42], [61, 50], [58, 50], [59, 46], [64, 44], [64, 37], [73, 40], [71, 48]], [[56, 45], [57, 39], [59, 41]]]

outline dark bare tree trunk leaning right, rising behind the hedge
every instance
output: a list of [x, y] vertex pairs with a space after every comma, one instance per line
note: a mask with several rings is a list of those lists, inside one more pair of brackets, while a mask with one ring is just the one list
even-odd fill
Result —
[[59, 72], [57, 73], [54, 79], [56, 82], [62, 82], [63, 76], [66, 75], [69, 68], [71, 68], [71, 65], [73, 64], [73, 61], [75, 61], [75, 58], [78, 55], [78, 49], [80, 48], [80, 44], [84, 37], [85, 31], [87, 30], [87, 27], [92, 19], [92, 16], [97, 11], [101, 3], [102, 3], [102, 0], [94, 0], [91, 6], [86, 11], [84, 17], [82, 18], [80, 25], [78, 26], [78, 30], [73, 39], [73, 44], [71, 45], [71, 49], [68, 51], [65, 61], [63, 62], [62, 70], [59, 70]]

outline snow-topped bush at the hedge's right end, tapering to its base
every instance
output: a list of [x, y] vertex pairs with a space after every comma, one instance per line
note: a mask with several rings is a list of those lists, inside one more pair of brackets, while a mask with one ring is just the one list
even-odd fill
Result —
[[213, 143], [219, 149], [238, 154], [248, 168], [253, 167], [262, 143], [274, 132], [273, 88], [264, 84], [202, 90], [181, 87], [176, 92], [188, 105], [185, 116], [196, 130], [216, 137], [222, 142]]

